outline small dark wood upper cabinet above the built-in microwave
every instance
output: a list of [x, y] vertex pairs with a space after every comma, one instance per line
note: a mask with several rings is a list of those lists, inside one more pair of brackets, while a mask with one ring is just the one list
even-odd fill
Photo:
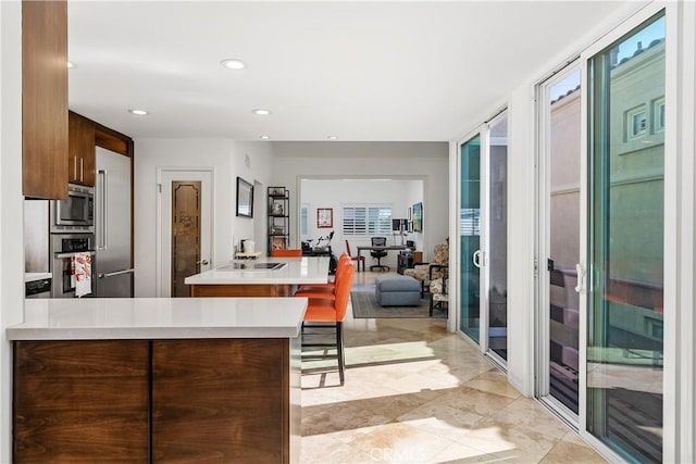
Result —
[[69, 115], [70, 155], [67, 179], [73, 184], [95, 186], [95, 125], [79, 114]]

